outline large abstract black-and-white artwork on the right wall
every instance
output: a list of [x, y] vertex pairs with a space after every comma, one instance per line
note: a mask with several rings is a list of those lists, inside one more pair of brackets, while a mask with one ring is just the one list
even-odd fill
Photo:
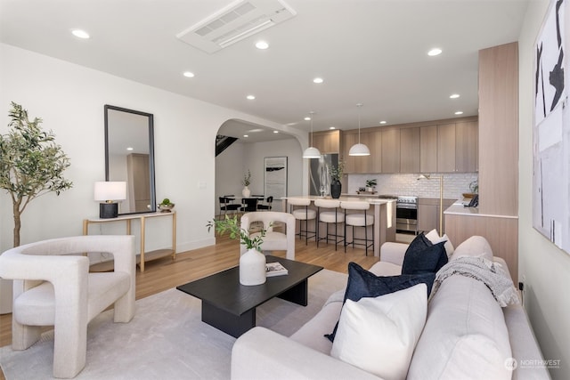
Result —
[[566, 58], [570, 9], [566, 3], [551, 0], [534, 46], [533, 227], [570, 253], [570, 66]]

